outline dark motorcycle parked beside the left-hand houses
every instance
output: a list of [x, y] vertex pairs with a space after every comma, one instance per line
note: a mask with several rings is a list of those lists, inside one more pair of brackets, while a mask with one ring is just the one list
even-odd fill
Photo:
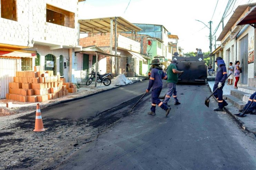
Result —
[[[92, 70], [89, 75], [90, 75], [90, 78], [86, 82], [87, 86], [89, 86], [92, 80], [95, 78], [95, 71]], [[97, 82], [103, 83], [105, 86], [109, 86], [111, 84], [111, 79], [107, 78], [108, 76], [112, 77], [112, 73], [100, 74], [99, 72], [97, 72]]]

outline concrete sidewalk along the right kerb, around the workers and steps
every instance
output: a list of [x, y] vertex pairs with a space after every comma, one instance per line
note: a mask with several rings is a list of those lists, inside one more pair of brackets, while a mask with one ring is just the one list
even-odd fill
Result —
[[[209, 85], [209, 88], [211, 89], [211, 92], [213, 92], [214, 81], [209, 81], [208, 85]], [[230, 91], [232, 89], [234, 89], [234, 85], [227, 85], [227, 82], [226, 82], [225, 86], [223, 87], [223, 95], [230, 95]], [[224, 110], [229, 115], [231, 115], [243, 129], [247, 130], [248, 132], [252, 132], [256, 135], [256, 115], [247, 114], [246, 117], [235, 116], [234, 114], [239, 113], [238, 108], [234, 107], [233, 105], [230, 105], [228, 101], [227, 103], [229, 105], [224, 107]]]

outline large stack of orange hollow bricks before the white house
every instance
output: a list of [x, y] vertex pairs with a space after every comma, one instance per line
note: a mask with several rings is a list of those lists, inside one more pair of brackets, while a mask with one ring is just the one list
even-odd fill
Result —
[[35, 71], [16, 72], [13, 82], [9, 83], [9, 93], [6, 94], [6, 98], [20, 102], [46, 102], [68, 95], [65, 78], [53, 75], [53, 71], [38, 70], [42, 69], [35, 67]]

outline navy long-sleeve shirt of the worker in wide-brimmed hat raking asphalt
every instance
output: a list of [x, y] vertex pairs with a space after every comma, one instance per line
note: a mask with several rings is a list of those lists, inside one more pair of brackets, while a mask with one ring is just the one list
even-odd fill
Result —
[[163, 82], [162, 79], [167, 80], [166, 73], [163, 72], [160, 68], [153, 68], [151, 70], [151, 75], [149, 77], [149, 84], [148, 84], [148, 91], [150, 91], [150, 88], [152, 87], [152, 90], [155, 88], [163, 88]]

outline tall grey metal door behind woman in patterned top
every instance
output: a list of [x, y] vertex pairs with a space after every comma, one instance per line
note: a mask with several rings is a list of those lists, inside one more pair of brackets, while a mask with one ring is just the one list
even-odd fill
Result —
[[241, 83], [248, 83], [248, 35], [240, 40], [240, 49], [241, 49], [241, 67], [243, 67]]

